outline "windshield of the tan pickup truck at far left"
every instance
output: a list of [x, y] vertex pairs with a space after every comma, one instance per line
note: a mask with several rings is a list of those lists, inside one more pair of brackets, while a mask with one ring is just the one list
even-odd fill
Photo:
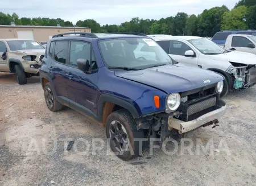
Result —
[[13, 40], [7, 42], [11, 51], [19, 51], [23, 49], [44, 49], [38, 42], [31, 40]]

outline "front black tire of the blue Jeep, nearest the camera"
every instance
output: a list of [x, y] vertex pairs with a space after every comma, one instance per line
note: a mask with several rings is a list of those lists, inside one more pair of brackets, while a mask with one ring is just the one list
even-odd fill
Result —
[[[114, 140], [112, 140], [110, 135], [113, 135], [112, 131], [110, 131], [112, 125], [114, 123], [121, 124], [126, 130], [126, 139], [129, 139], [128, 144], [126, 145], [127, 151], [118, 151], [115, 147]], [[110, 134], [111, 133], [111, 134]], [[108, 138], [109, 146], [115, 155], [122, 160], [130, 160], [136, 158], [138, 155], [142, 154], [143, 150], [146, 148], [145, 144], [148, 142], [142, 141], [141, 147], [139, 146], [140, 142], [134, 139], [143, 139], [144, 131], [142, 129], [137, 130], [135, 121], [129, 111], [127, 110], [117, 110], [111, 113], [106, 121], [106, 136]]]

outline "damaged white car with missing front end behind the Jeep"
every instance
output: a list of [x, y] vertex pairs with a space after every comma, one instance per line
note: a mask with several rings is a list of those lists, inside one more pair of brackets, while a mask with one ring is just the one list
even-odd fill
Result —
[[150, 35], [178, 63], [209, 69], [225, 77], [221, 96], [231, 89], [256, 84], [256, 55], [229, 51], [209, 39], [196, 36]]

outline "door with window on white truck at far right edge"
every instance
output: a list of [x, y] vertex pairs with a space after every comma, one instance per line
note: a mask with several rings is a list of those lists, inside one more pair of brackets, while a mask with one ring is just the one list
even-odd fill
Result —
[[253, 40], [250, 40], [249, 38], [243, 36], [233, 36], [230, 49], [236, 49], [236, 51], [241, 52], [256, 53], [255, 48], [248, 47], [250, 43], [255, 44]]

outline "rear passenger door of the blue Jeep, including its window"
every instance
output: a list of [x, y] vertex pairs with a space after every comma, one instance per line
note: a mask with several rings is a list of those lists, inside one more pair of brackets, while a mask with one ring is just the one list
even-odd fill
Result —
[[48, 70], [52, 78], [56, 96], [68, 99], [67, 93], [67, 77], [65, 75], [66, 65], [68, 63], [68, 41], [61, 40], [51, 42], [49, 47], [49, 64]]

